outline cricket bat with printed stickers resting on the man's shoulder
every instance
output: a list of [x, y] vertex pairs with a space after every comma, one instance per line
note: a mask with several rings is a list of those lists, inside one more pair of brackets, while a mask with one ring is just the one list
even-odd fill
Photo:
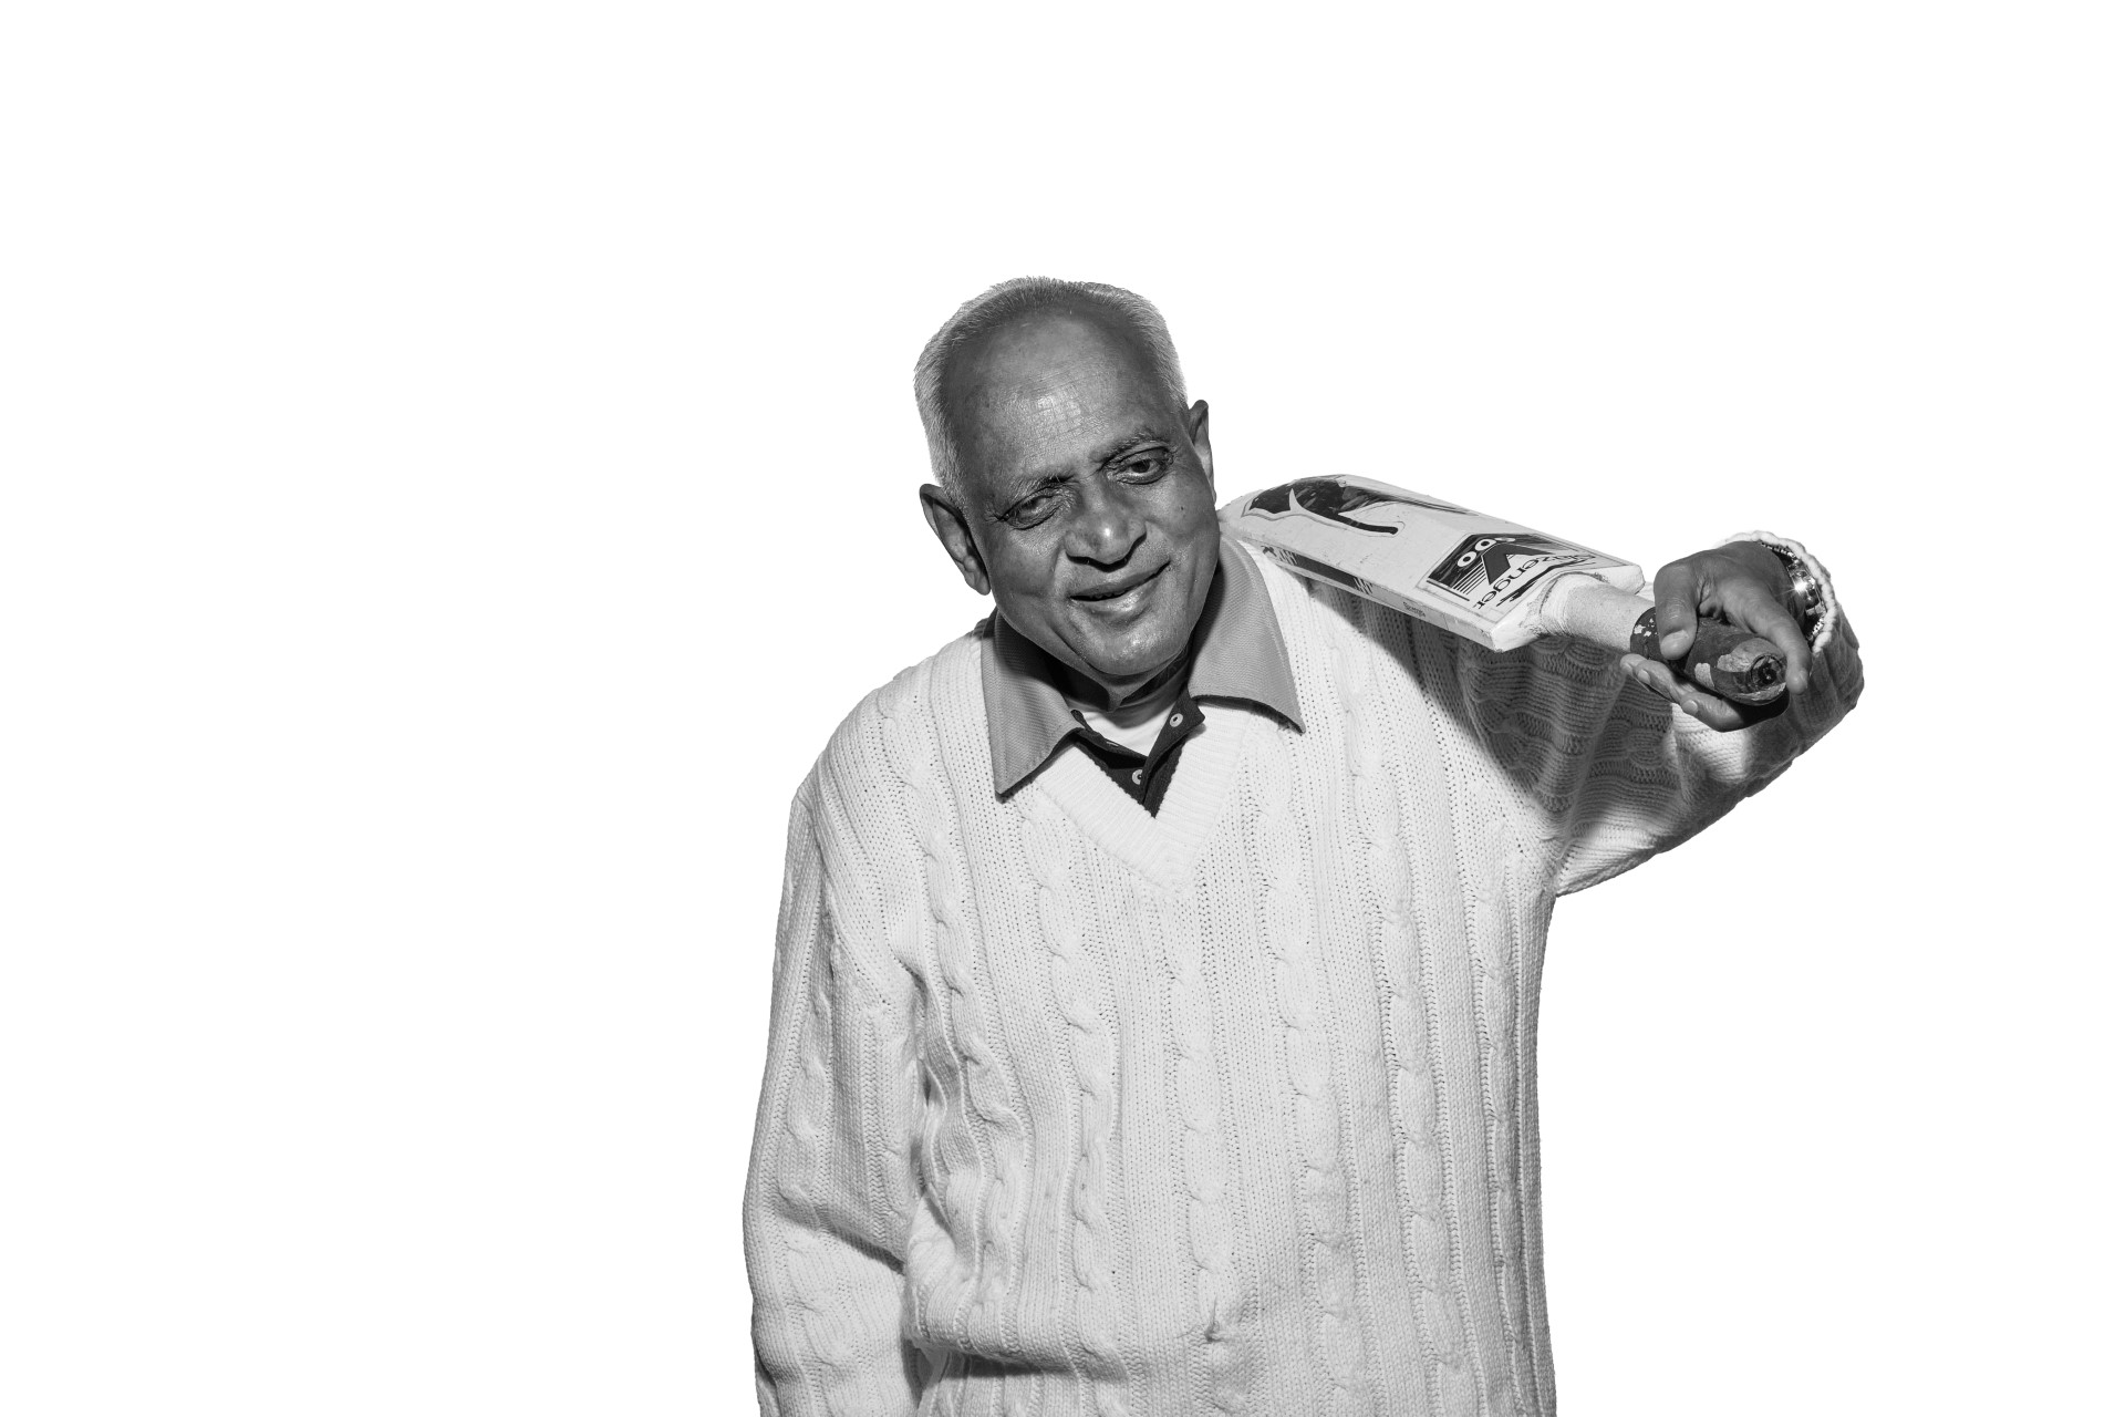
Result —
[[[1492, 650], [1575, 635], [1664, 659], [1643, 569], [1439, 497], [1368, 478], [1303, 478], [1228, 501], [1218, 516], [1300, 576]], [[1779, 646], [1723, 620], [1698, 620], [1670, 669], [1751, 707], [1785, 693]]]

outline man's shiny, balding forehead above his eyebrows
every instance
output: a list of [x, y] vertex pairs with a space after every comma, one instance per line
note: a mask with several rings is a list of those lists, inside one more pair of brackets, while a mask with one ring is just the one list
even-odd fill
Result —
[[1130, 429], [1164, 427], [1150, 355], [1096, 312], [1035, 310], [973, 342], [952, 361], [946, 399], [973, 484], [1065, 474]]

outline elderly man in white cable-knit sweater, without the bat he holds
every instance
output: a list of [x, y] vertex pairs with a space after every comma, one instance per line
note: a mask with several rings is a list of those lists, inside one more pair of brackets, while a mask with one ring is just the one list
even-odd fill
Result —
[[1670, 656], [1700, 608], [1787, 650], [1742, 727], [1660, 663], [1492, 654], [1222, 540], [1209, 410], [1126, 291], [994, 287], [916, 395], [922, 514], [997, 610], [790, 812], [763, 1411], [1551, 1413], [1549, 914], [1857, 699], [1825, 582], [1776, 537], [1660, 571]]

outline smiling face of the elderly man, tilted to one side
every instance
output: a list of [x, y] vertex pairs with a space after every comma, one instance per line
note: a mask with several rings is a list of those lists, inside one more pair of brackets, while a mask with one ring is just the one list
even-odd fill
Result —
[[980, 557], [969, 584], [1114, 699], [1173, 665], [1218, 569], [1209, 410], [1169, 406], [1128, 334], [1065, 310], [965, 351], [944, 393]]

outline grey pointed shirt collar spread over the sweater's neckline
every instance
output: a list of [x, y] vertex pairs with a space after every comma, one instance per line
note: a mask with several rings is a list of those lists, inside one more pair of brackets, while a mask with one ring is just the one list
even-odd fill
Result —
[[[1262, 569], [1224, 535], [1218, 537], [1218, 574], [1209, 582], [1190, 652], [1192, 697], [1252, 703], [1305, 729], [1292, 659], [1284, 648]], [[1054, 661], [1001, 614], [988, 616], [988, 635], [982, 639], [982, 705], [988, 712], [988, 761], [999, 797], [1037, 773], [1077, 731], [1077, 720], [1054, 684]]]

